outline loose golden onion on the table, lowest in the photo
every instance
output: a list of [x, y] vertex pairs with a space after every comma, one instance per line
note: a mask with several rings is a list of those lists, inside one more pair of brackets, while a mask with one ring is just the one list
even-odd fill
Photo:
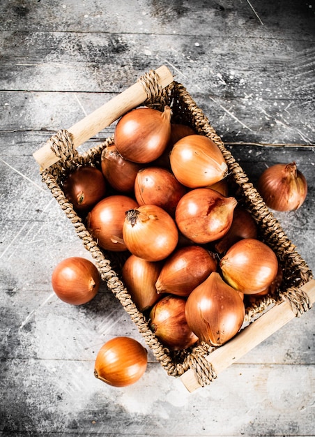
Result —
[[94, 376], [114, 387], [137, 382], [146, 371], [148, 353], [139, 341], [119, 336], [105, 343], [95, 360]]

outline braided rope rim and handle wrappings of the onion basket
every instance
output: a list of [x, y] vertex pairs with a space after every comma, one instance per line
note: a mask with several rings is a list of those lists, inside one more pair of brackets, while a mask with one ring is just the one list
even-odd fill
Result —
[[[215, 133], [215, 130], [210, 126], [208, 119], [197, 107], [196, 103], [194, 103], [183, 85], [173, 82], [169, 87], [167, 87], [167, 89], [161, 91], [156, 85], [158, 82], [154, 72], [144, 75], [140, 78], [140, 81], [144, 84], [144, 87], [149, 90], [146, 91], [146, 94], [150, 96], [147, 101], [149, 105], [160, 105], [160, 108], [162, 109], [165, 104], [169, 105], [169, 102], [171, 101], [173, 103], [172, 109], [175, 115], [178, 113], [178, 117], [194, 127], [197, 132], [211, 138], [218, 145], [226, 159], [229, 170], [233, 173], [233, 177], [237, 184], [244, 191], [245, 198], [249, 204], [249, 209], [252, 211], [252, 214], [259, 225], [263, 227], [264, 234], [267, 235], [270, 242], [274, 244], [279, 258], [289, 257], [292, 269], [300, 269], [299, 274], [302, 283], [307, 282], [310, 279], [310, 276], [312, 276], [312, 272], [309, 271], [309, 268], [305, 261], [300, 258], [300, 255], [295, 252], [295, 246], [289, 242], [289, 239], [284, 234], [281, 226], [277, 221], [275, 221], [275, 218], [273, 218], [272, 214], [268, 209], [266, 209], [266, 206], [261, 203], [261, 198], [257, 195], [252, 184], [249, 183], [243, 170], [238, 163], [236, 163], [230, 152], [225, 149], [221, 138]], [[153, 99], [152, 102], [150, 101], [150, 98]], [[79, 165], [95, 165], [96, 161], [100, 163], [100, 153], [102, 149], [107, 147], [107, 145], [113, 144], [113, 142], [113, 138], [109, 138], [105, 140], [102, 145], [93, 147], [93, 149], [90, 149], [85, 154], [79, 155], [73, 149], [72, 136], [67, 133], [67, 131], [60, 131], [52, 137], [52, 147], [56, 154], [60, 154], [61, 161], [52, 165], [49, 171], [44, 170], [42, 172], [43, 182], [47, 184], [49, 190], [52, 192], [57, 202], [59, 202], [63, 211], [68, 218], [70, 218], [72, 224], [75, 226], [77, 235], [82, 239], [84, 246], [90, 251], [95, 259], [95, 264], [100, 271], [102, 280], [107, 283], [109, 290], [111, 290], [119, 299], [125, 311], [128, 312], [132, 321], [137, 325], [137, 328], [140, 334], [144, 337], [146, 344], [151, 348], [151, 350], [153, 350], [153, 354], [167, 373], [171, 376], [180, 376], [187, 371], [187, 369], [191, 368], [194, 370], [200, 385], [209, 384], [216, 378], [212, 365], [208, 360], [206, 360], [206, 353], [209, 353], [209, 350], [203, 346], [197, 346], [191, 350], [182, 351], [180, 360], [176, 360], [176, 357], [174, 357], [174, 355], [172, 355], [169, 350], [157, 340], [155, 334], [153, 334], [148, 327], [148, 323], [143, 314], [138, 311], [137, 307], [132, 302], [128, 291], [125, 289], [118, 274], [116, 274], [112, 267], [113, 262], [115, 262], [116, 259], [116, 254], [114, 255], [113, 253], [100, 251], [97, 242], [93, 240], [89, 231], [86, 230], [84, 223], [82, 223], [82, 219], [77, 216], [77, 213], [74, 211], [72, 205], [68, 202], [61, 190], [60, 182], [70, 172], [72, 167], [76, 168]], [[278, 238], [281, 239], [280, 243], [277, 242]], [[112, 260], [109, 261], [109, 259]], [[296, 297], [295, 289], [282, 293], [281, 298], [289, 299], [290, 303], [299, 301]], [[302, 295], [301, 299], [301, 308], [306, 309], [308, 305], [305, 304], [306, 301]], [[252, 309], [247, 313], [247, 318], [250, 319], [256, 315], [257, 312], [263, 311], [271, 303], [275, 303], [275, 299], [272, 297], [264, 297], [256, 307], [252, 306]], [[300, 309], [298, 309], [298, 313], [300, 313]]]

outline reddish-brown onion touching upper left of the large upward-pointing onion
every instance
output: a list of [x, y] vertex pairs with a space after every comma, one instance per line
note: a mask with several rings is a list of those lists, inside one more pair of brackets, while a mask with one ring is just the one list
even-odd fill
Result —
[[217, 260], [212, 252], [201, 246], [180, 248], [165, 260], [155, 284], [156, 290], [187, 297], [216, 269]]

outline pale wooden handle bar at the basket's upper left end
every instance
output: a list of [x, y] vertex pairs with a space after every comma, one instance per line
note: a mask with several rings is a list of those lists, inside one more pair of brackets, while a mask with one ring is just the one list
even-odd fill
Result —
[[[162, 88], [167, 87], [173, 82], [173, 75], [167, 66], [160, 66], [155, 70], [155, 73], [160, 77], [160, 85]], [[96, 133], [102, 131], [116, 119], [144, 103], [148, 96], [146, 90], [140, 82], [136, 82], [125, 91], [121, 92], [110, 101], [102, 105], [100, 108], [78, 121], [76, 124], [67, 129], [72, 133], [73, 146], [75, 149], [82, 145], [86, 140], [93, 137]], [[59, 161], [59, 157], [54, 154], [49, 144], [46, 143], [33, 153], [40, 167], [45, 170], [50, 165]]]

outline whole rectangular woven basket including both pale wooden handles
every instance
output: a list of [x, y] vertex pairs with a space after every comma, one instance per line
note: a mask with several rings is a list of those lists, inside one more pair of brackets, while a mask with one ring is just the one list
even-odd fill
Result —
[[[87, 230], [84, 218], [75, 212], [63, 193], [63, 181], [79, 165], [94, 165], [100, 168], [102, 150], [114, 144], [114, 138], [107, 138], [84, 154], [78, 154], [77, 147], [128, 110], [143, 104], [160, 110], [163, 110], [165, 105], [171, 106], [173, 122], [187, 124], [217, 144], [228, 165], [231, 181], [236, 186], [238, 202], [251, 212], [258, 224], [259, 239], [275, 251], [282, 268], [284, 279], [279, 289], [275, 294], [261, 297], [255, 304], [247, 306], [246, 325], [233, 339], [218, 348], [201, 343], [187, 350], [171, 352], [164, 347], [148, 327], [144, 314], [138, 311], [123, 284], [121, 267], [126, 253], [101, 249]], [[33, 156], [40, 165], [43, 182], [47, 184], [84, 246], [91, 253], [102, 280], [107, 283], [107, 287], [116, 295], [137, 325], [160, 364], [169, 375], [180, 377], [187, 390], [193, 391], [209, 384], [218, 373], [289, 320], [307, 311], [315, 301], [315, 281], [305, 260], [296, 251], [231, 152], [224, 147], [205, 114], [197, 107], [185, 87], [173, 80], [167, 67], [162, 66], [156, 71], [144, 74], [136, 84], [101, 108], [71, 128], [61, 130], [49, 138], [47, 144], [38, 149]]]

